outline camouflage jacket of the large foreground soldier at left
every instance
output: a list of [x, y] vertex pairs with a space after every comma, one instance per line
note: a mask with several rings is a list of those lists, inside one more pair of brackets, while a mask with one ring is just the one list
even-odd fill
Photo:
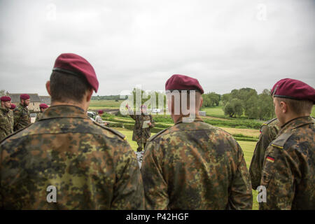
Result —
[[[57, 202], [46, 200], [48, 186]], [[123, 134], [76, 106], [50, 106], [43, 118], [0, 144], [4, 209], [144, 209], [136, 155]]]

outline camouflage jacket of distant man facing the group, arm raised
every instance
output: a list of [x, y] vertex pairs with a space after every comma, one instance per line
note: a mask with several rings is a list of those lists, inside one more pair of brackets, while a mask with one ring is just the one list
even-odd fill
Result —
[[[136, 122], [134, 123], [134, 132], [132, 133], [132, 141], [146, 142], [151, 137], [151, 128], [154, 127], [154, 121], [151, 115], [130, 115]], [[142, 128], [144, 120], [150, 120], [151, 126]]]

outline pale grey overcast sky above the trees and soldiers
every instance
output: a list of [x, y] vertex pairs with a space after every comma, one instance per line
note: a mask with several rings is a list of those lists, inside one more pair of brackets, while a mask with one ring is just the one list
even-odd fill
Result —
[[220, 94], [315, 87], [314, 21], [314, 0], [0, 0], [0, 90], [48, 95], [63, 52], [92, 64], [99, 95], [164, 90], [174, 73]]

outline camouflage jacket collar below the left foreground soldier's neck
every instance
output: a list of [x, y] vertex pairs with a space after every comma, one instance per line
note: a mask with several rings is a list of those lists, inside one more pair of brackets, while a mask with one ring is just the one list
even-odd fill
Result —
[[88, 116], [85, 114], [85, 111], [78, 106], [72, 105], [57, 105], [50, 106], [43, 113], [43, 118], [41, 120], [50, 119], [50, 118], [86, 118]]

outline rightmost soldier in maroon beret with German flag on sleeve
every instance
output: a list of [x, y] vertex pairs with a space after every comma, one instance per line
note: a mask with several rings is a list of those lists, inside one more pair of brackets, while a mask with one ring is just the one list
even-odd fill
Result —
[[267, 202], [260, 209], [315, 209], [315, 127], [309, 116], [315, 90], [285, 78], [272, 96], [280, 130], [265, 153], [260, 186]]

